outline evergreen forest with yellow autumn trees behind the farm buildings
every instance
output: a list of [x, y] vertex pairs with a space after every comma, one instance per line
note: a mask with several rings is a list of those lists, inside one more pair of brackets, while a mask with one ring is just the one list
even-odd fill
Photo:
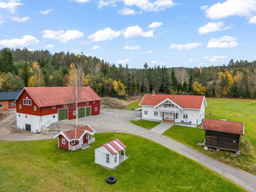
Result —
[[100, 96], [124, 98], [155, 90], [164, 94], [256, 99], [256, 61], [230, 60], [211, 67], [129, 68], [81, 54], [47, 50], [0, 51], [0, 91], [24, 86], [90, 86]]

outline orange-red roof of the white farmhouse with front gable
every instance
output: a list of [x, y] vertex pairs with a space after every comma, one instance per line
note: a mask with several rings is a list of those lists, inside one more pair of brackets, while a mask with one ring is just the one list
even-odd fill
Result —
[[146, 94], [140, 102], [140, 106], [156, 106], [166, 99], [172, 100], [180, 108], [201, 109], [204, 96], [201, 95], [152, 95]]

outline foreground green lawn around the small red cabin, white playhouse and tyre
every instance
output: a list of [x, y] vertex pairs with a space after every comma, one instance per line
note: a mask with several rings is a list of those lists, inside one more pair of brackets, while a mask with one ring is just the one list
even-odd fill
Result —
[[[115, 170], [95, 164], [93, 148], [116, 138], [129, 159]], [[0, 141], [0, 191], [245, 191], [153, 141], [122, 133], [95, 134], [95, 141], [76, 152], [57, 140]], [[110, 175], [116, 184], [106, 184]]]

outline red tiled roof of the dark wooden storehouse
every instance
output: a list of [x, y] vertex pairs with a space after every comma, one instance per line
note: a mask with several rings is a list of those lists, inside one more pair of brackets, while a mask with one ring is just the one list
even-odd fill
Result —
[[202, 129], [208, 131], [228, 132], [233, 134], [244, 134], [244, 123], [205, 118]]

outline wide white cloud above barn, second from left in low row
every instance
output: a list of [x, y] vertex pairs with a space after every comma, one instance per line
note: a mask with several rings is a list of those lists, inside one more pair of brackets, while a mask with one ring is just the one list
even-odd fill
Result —
[[49, 29], [42, 31], [44, 33], [43, 38], [49, 38], [52, 40], [59, 40], [61, 43], [67, 43], [70, 40], [80, 38], [84, 34], [79, 30], [69, 30], [64, 33], [63, 30], [51, 31]]

